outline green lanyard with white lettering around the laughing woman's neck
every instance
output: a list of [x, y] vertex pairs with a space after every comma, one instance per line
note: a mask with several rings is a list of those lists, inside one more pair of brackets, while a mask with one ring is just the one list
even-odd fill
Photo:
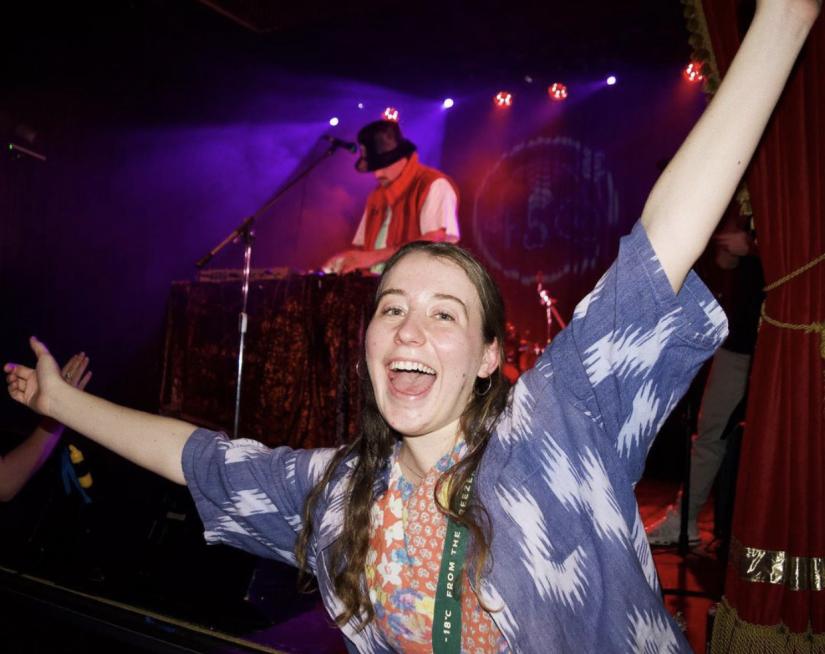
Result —
[[[458, 515], [464, 513], [470, 501], [475, 472], [470, 475], [458, 498]], [[461, 651], [461, 572], [467, 553], [467, 527], [450, 518], [441, 553], [441, 570], [433, 611], [433, 652], [458, 654]]]

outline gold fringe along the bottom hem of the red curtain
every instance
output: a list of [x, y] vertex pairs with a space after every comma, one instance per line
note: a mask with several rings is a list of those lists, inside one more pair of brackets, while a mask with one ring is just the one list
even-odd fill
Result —
[[825, 654], [825, 634], [814, 633], [810, 623], [803, 633], [784, 624], [771, 627], [745, 622], [725, 599], [716, 605], [711, 654]]

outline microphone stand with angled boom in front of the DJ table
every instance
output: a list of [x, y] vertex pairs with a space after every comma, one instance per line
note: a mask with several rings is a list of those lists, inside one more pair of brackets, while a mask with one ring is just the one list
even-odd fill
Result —
[[247, 303], [249, 300], [249, 276], [251, 272], [251, 262], [252, 262], [252, 244], [255, 240], [255, 232], [253, 231], [255, 227], [255, 223], [261, 218], [269, 209], [271, 209], [278, 200], [280, 200], [284, 194], [291, 189], [295, 184], [301, 181], [304, 177], [309, 175], [315, 168], [324, 160], [331, 157], [335, 154], [335, 151], [338, 150], [341, 146], [338, 143], [332, 143], [323, 155], [318, 157], [315, 161], [313, 161], [309, 166], [304, 168], [300, 173], [295, 175], [292, 179], [287, 181], [281, 188], [279, 188], [275, 194], [267, 200], [260, 209], [258, 209], [254, 214], [251, 216], [244, 218], [243, 222], [238, 225], [235, 229], [233, 229], [229, 235], [223, 239], [220, 243], [218, 243], [214, 248], [212, 248], [207, 254], [203, 257], [198, 259], [195, 262], [195, 267], [198, 269], [203, 268], [207, 263], [209, 263], [218, 252], [223, 250], [227, 245], [230, 243], [241, 240], [244, 244], [244, 258], [243, 258], [243, 283], [241, 286], [241, 312], [238, 316], [238, 332], [239, 342], [238, 342], [238, 368], [237, 368], [237, 381], [235, 383], [235, 419], [232, 427], [232, 437], [238, 438], [238, 425], [240, 423], [241, 418], [241, 381], [243, 379], [243, 355], [244, 349], [246, 346], [246, 328], [248, 324], [249, 316], [246, 313]]

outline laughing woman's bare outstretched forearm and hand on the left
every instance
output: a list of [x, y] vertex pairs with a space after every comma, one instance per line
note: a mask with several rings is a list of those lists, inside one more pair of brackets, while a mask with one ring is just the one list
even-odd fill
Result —
[[113, 404], [67, 382], [46, 346], [31, 347], [37, 367], [6, 364], [9, 395], [171, 481], [183, 484], [181, 454], [194, 425]]

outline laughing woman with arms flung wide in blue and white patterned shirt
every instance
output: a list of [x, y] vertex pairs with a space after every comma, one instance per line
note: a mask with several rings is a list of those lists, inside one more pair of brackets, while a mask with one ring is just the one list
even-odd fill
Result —
[[512, 389], [488, 274], [456, 246], [413, 243], [387, 262], [360, 434], [337, 450], [269, 449], [110, 404], [69, 385], [36, 339], [36, 369], [6, 365], [9, 393], [188, 484], [207, 541], [314, 574], [351, 650], [687, 652], [633, 486], [725, 336], [690, 267], [819, 8], [759, 2], [616, 261]]

